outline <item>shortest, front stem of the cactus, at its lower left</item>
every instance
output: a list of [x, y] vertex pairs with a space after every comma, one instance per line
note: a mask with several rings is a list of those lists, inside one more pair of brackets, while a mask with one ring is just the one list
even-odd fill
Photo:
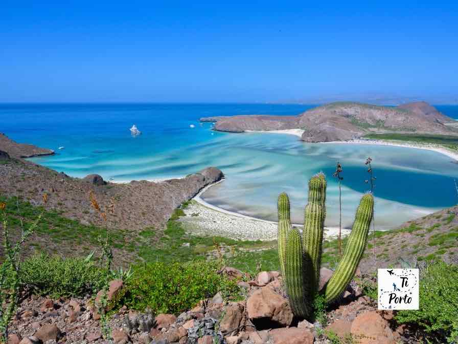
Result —
[[293, 228], [288, 233], [286, 242], [286, 289], [288, 292], [291, 308], [297, 316], [308, 317], [311, 313], [310, 304], [306, 303], [307, 288], [304, 283], [303, 271], [303, 252], [301, 244], [301, 234], [296, 228]]

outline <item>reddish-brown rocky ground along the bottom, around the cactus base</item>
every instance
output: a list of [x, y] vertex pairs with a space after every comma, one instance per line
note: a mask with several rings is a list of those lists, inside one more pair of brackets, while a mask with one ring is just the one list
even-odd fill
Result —
[[[376, 311], [373, 300], [362, 296], [357, 284], [328, 313], [328, 324], [296, 319], [277, 271], [246, 274], [224, 268], [245, 291], [240, 302], [225, 302], [220, 293], [201, 300], [193, 309], [174, 314], [145, 314], [121, 308], [110, 319], [114, 344], [311, 344], [330, 343], [326, 333], [341, 340], [350, 336], [360, 344], [414, 343], [405, 326], [397, 326], [393, 312]], [[320, 285], [331, 275], [322, 269]], [[123, 292], [120, 280], [111, 282], [108, 299]], [[410, 338], [410, 339], [408, 339]], [[10, 328], [9, 344], [108, 343], [102, 338], [100, 315], [89, 298], [58, 299], [30, 296], [22, 302]]]

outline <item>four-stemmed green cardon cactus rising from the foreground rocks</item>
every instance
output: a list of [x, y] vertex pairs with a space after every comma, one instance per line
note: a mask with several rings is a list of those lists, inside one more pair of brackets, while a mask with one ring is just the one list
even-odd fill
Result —
[[337, 269], [322, 290], [318, 290], [326, 218], [326, 178], [320, 173], [309, 181], [308, 204], [305, 207], [304, 231], [291, 229], [289, 198], [278, 199], [278, 252], [291, 307], [297, 316], [310, 317], [316, 293], [326, 303], [333, 302], [350, 283], [367, 244], [369, 225], [374, 212], [372, 193], [365, 193], [356, 210], [355, 222]]

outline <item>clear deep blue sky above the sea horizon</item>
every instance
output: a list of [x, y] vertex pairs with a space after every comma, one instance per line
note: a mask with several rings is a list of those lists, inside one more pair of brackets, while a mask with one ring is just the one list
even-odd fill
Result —
[[458, 98], [456, 2], [0, 2], [0, 102]]

